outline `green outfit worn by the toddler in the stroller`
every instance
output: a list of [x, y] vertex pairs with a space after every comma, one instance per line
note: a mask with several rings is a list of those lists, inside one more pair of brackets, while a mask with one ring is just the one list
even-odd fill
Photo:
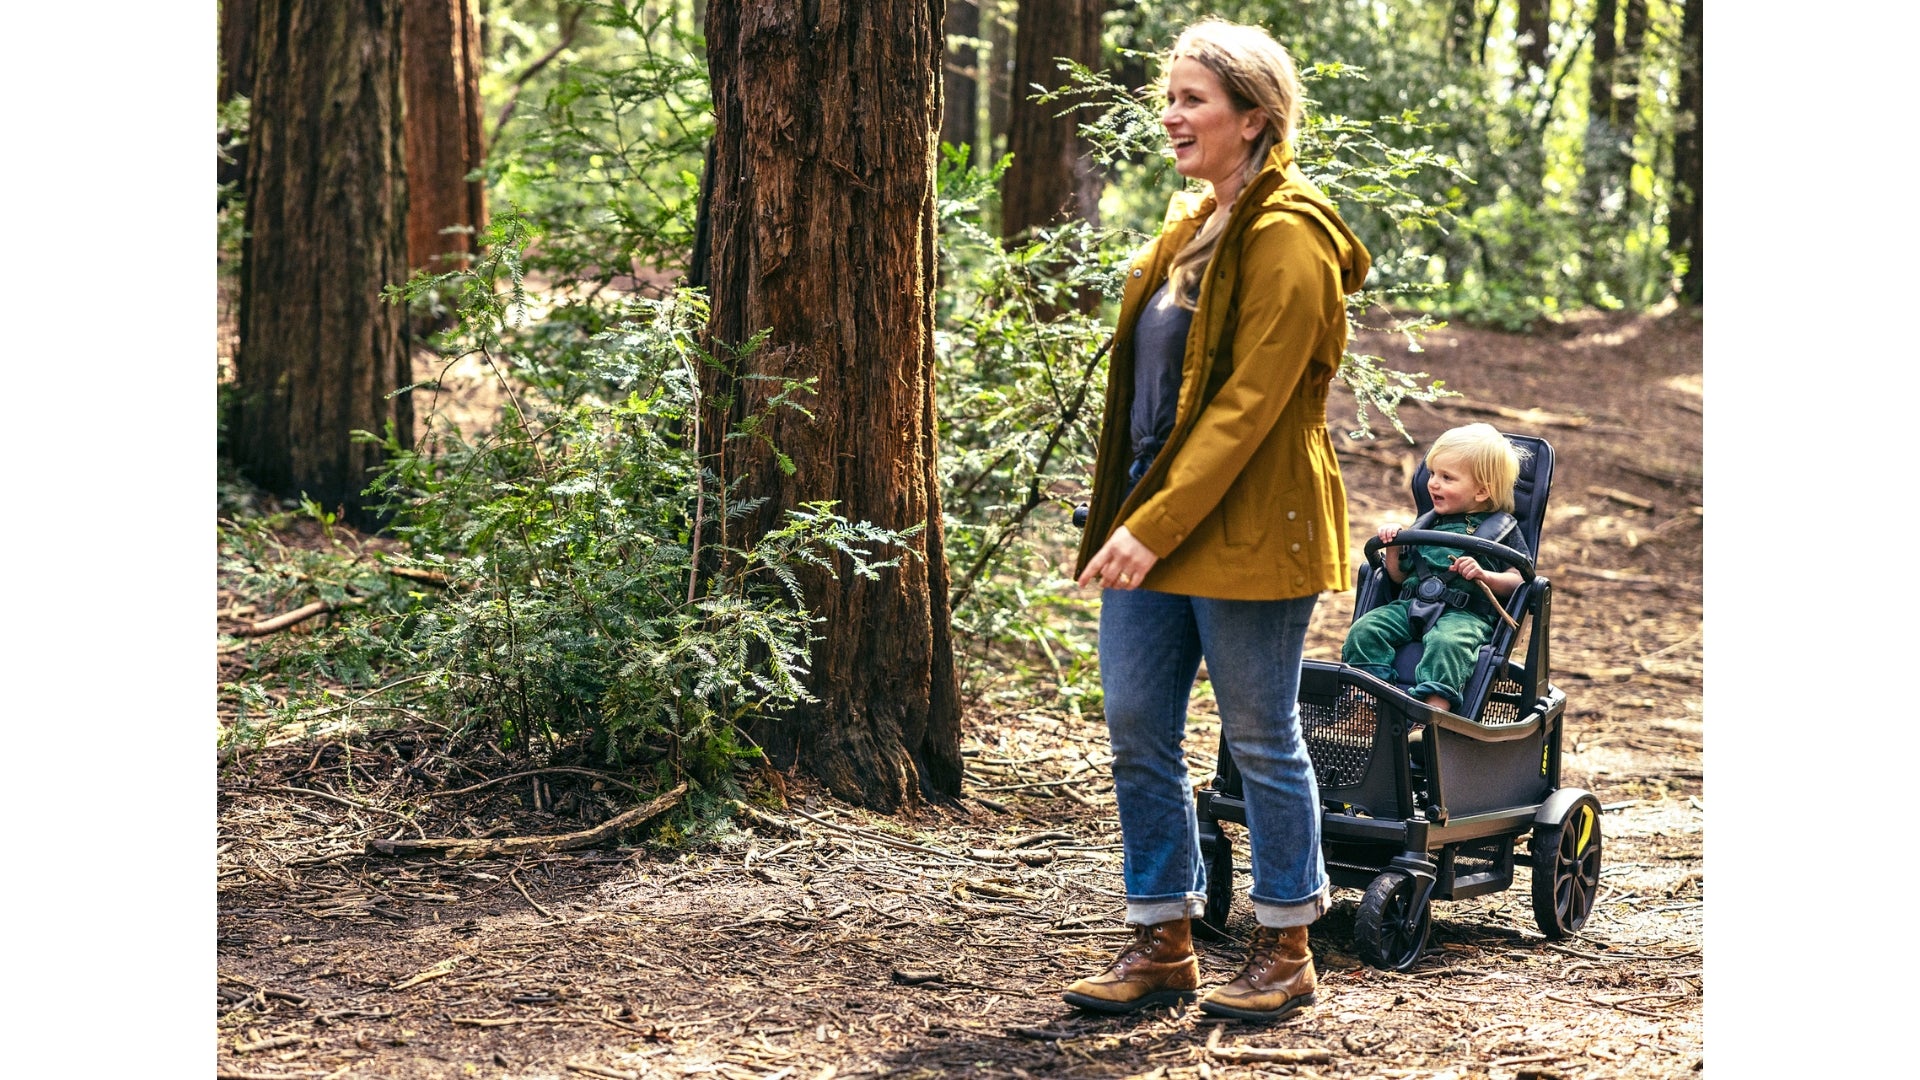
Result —
[[[1450, 513], [1427, 528], [1438, 532], [1473, 532], [1484, 519], [1484, 513]], [[1523, 555], [1530, 553], [1519, 530], [1509, 532], [1503, 544]], [[1500, 615], [1494, 615], [1486, 607], [1486, 594], [1480, 592], [1480, 586], [1448, 571], [1459, 553], [1457, 548], [1440, 548], [1434, 544], [1402, 548], [1400, 567], [1407, 573], [1407, 580], [1402, 584], [1400, 600], [1382, 603], [1354, 621], [1354, 628], [1346, 634], [1346, 644], [1340, 646], [1340, 661], [1375, 678], [1398, 682], [1400, 675], [1394, 671], [1394, 653], [1407, 642], [1425, 642], [1427, 648], [1413, 667], [1413, 690], [1409, 694], [1421, 700], [1428, 694], [1440, 694], [1446, 698], [1448, 709], [1459, 711], [1459, 694], [1467, 688], [1467, 678], [1473, 676], [1473, 663], [1480, 653], [1480, 646], [1494, 636], [1494, 619], [1500, 619]], [[1480, 557], [1475, 557], [1475, 561], [1482, 567], [1488, 565]], [[1488, 569], [1500, 571], [1505, 567]], [[1413, 590], [1428, 577], [1442, 578], [1450, 588], [1465, 590], [1475, 603], [1448, 607], [1423, 636], [1409, 609], [1413, 607]]]

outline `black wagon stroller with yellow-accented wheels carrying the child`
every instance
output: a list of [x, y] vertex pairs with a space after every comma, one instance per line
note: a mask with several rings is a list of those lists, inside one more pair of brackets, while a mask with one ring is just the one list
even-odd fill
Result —
[[[1509, 434], [1526, 452], [1515, 484], [1515, 519], [1540, 550], [1553, 479], [1553, 448]], [[1363, 961], [1405, 970], [1419, 961], [1434, 899], [1467, 899], [1513, 884], [1515, 842], [1530, 836], [1534, 919], [1559, 940], [1578, 930], [1599, 886], [1599, 799], [1563, 788], [1567, 696], [1549, 680], [1553, 590], [1532, 559], [1503, 544], [1421, 528], [1430, 521], [1427, 463], [1413, 475], [1421, 509], [1394, 544], [1444, 544], [1494, 555], [1524, 584], [1505, 601], [1517, 623], [1496, 621], [1459, 715], [1407, 694], [1421, 642], [1394, 657], [1396, 684], [1344, 663], [1304, 661], [1300, 724], [1321, 794], [1321, 851], [1332, 884], [1363, 890], [1354, 938]], [[1394, 600], [1398, 586], [1367, 540], [1354, 617]], [[1196, 930], [1223, 936], [1233, 903], [1233, 847], [1219, 822], [1246, 824], [1240, 771], [1219, 748], [1213, 780], [1196, 794], [1208, 867], [1206, 917]]]

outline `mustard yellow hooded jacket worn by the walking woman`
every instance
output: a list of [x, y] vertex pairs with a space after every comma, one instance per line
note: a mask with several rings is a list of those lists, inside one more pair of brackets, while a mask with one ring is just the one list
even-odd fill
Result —
[[1140, 588], [1288, 600], [1350, 588], [1346, 486], [1327, 388], [1346, 352], [1346, 302], [1373, 258], [1277, 146], [1235, 200], [1200, 284], [1173, 432], [1127, 488], [1133, 331], [1173, 256], [1213, 211], [1183, 192], [1129, 265], [1075, 577], [1119, 525], [1160, 561]]

